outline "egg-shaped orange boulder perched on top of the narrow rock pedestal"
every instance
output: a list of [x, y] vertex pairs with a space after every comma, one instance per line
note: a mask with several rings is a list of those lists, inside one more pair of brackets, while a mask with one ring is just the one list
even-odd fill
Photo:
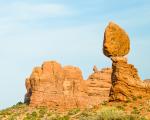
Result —
[[125, 56], [129, 53], [130, 41], [126, 32], [113, 22], [104, 34], [103, 52], [107, 57]]

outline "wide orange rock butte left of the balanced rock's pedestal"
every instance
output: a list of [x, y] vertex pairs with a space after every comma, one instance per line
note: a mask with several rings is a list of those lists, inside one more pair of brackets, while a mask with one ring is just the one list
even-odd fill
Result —
[[26, 80], [25, 102], [30, 106], [48, 106], [59, 110], [98, 105], [108, 100], [110, 77], [111, 69], [103, 69], [93, 73], [86, 81], [78, 67], [62, 67], [55, 61], [45, 62], [42, 67], [34, 68]]

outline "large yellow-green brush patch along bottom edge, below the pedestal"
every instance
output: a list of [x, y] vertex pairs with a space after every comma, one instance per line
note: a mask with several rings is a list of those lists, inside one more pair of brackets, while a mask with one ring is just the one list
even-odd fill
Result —
[[[122, 109], [122, 108], [121, 108]], [[104, 106], [96, 113], [91, 111], [83, 111], [77, 119], [79, 120], [147, 120], [139, 114], [127, 114], [120, 107]]]

